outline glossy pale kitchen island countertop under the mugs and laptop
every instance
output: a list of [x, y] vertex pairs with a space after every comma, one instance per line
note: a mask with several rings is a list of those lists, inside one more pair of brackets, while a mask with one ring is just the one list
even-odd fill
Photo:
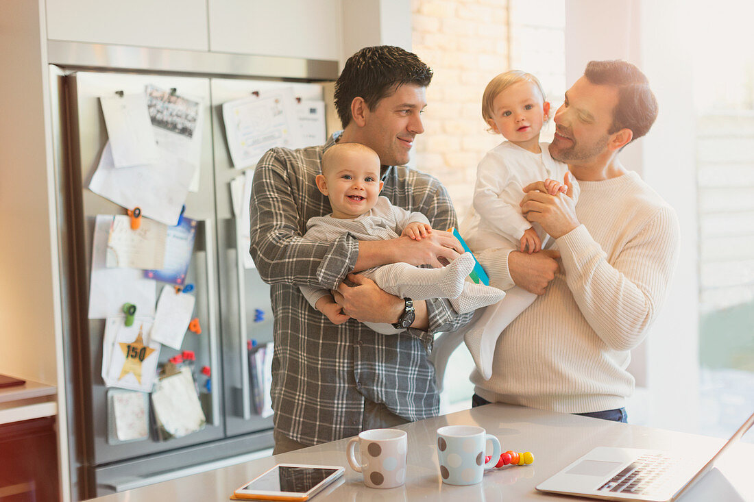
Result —
[[[743, 421], [743, 418], [741, 419]], [[440, 480], [435, 431], [444, 425], [479, 425], [500, 439], [504, 451], [532, 451], [530, 466], [493, 469], [477, 485], [451, 486]], [[574, 497], [541, 494], [535, 486], [596, 446], [654, 448], [711, 458], [724, 440], [670, 430], [620, 424], [596, 418], [493, 404], [437, 418], [402, 425], [409, 434], [406, 484], [379, 490], [366, 488], [360, 473], [348, 467], [345, 448], [348, 439], [290, 451], [282, 455], [249, 461], [206, 473], [186, 476], [155, 485], [98, 497], [97, 502], [140, 500], [228, 500], [233, 491], [278, 463], [325, 464], [345, 467], [342, 479], [325, 488], [312, 500], [577, 500]], [[733, 431], [731, 431], [731, 434]], [[745, 436], [747, 437], [747, 436]], [[734, 445], [682, 502], [697, 500], [754, 500], [751, 459], [754, 445]], [[740, 494], [740, 496], [737, 495]], [[578, 499], [585, 500], [585, 499]]]

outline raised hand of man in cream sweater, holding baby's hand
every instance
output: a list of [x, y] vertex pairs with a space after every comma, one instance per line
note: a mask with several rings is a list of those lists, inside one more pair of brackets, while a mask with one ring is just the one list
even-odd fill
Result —
[[521, 200], [521, 213], [530, 222], [538, 222], [553, 239], [562, 237], [578, 227], [576, 204], [573, 201], [573, 184], [571, 173], [566, 173], [563, 181], [568, 190], [566, 194], [548, 193], [545, 182], [534, 182], [524, 187], [526, 192]]

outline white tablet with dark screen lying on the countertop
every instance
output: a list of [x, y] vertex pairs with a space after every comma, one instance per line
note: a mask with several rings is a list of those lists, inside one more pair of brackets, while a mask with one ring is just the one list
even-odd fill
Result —
[[343, 475], [343, 467], [277, 464], [233, 492], [234, 497], [256, 500], [308, 500]]

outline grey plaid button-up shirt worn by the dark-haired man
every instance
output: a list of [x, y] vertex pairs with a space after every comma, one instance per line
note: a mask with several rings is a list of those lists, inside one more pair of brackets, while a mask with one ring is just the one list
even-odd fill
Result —
[[[306, 222], [331, 213], [317, 190], [325, 145], [273, 148], [257, 164], [251, 194], [250, 253], [271, 284], [274, 314], [272, 409], [275, 428], [308, 445], [354, 436], [362, 430], [364, 399], [415, 421], [437, 415], [440, 399], [427, 351], [434, 334], [470, 320], [447, 300], [427, 301], [430, 329], [380, 335], [357, 320], [336, 326], [306, 302], [299, 286], [336, 289], [351, 272], [357, 240], [304, 240]], [[389, 167], [382, 195], [428, 217], [433, 228], [456, 225], [455, 210], [437, 179], [407, 167]]]

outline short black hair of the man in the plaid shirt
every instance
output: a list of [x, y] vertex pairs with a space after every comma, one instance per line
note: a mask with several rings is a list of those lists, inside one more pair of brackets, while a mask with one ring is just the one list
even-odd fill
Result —
[[403, 84], [427, 87], [432, 69], [409, 51], [392, 45], [364, 47], [348, 58], [335, 83], [335, 107], [345, 128], [351, 122], [351, 103], [360, 96], [373, 111], [379, 100]]

